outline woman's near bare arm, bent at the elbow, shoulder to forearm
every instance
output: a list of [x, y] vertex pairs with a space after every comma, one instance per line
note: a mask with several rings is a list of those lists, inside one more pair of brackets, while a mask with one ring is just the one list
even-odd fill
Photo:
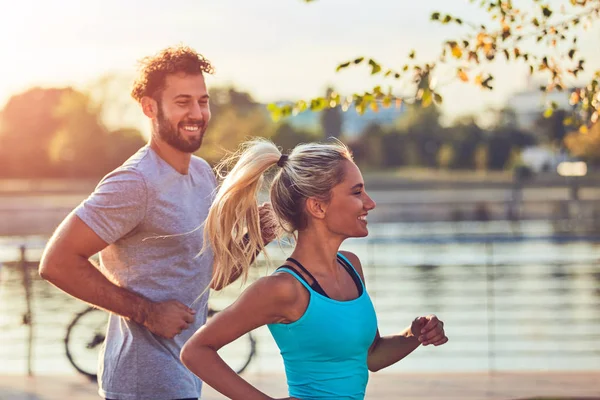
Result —
[[289, 278], [272, 275], [252, 284], [183, 346], [183, 364], [227, 398], [270, 400], [271, 397], [235, 373], [217, 351], [259, 326], [287, 320], [288, 310], [296, 304], [298, 294], [295, 282]]

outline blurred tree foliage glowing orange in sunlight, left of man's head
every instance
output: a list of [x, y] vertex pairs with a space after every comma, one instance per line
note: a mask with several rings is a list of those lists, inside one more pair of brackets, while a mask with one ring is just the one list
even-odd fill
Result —
[[99, 178], [145, 143], [135, 129], [110, 132], [102, 107], [72, 88], [34, 88], [9, 99], [0, 117], [3, 177]]

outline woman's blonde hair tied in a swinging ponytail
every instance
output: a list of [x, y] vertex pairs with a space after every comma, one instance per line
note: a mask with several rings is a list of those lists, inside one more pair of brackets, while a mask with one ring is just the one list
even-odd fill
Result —
[[307, 198], [329, 201], [331, 189], [344, 179], [342, 161], [352, 161], [352, 155], [339, 140], [300, 144], [286, 159], [275, 144], [262, 138], [242, 144], [223, 160], [217, 166], [223, 180], [204, 225], [205, 246], [210, 244], [214, 253], [211, 286], [222, 288], [238, 273], [245, 280], [254, 256], [265, 248], [257, 196], [269, 168], [280, 168], [270, 185], [273, 217], [282, 228], [279, 236], [281, 231], [294, 233], [306, 227]]

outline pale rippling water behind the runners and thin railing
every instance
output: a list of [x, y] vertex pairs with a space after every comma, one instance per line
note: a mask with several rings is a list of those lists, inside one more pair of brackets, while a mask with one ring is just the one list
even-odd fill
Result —
[[[448, 344], [393, 368], [600, 370], [600, 236], [555, 235], [540, 224], [545, 228], [518, 234], [508, 224], [469, 224], [454, 233], [448, 224], [380, 224], [368, 238], [348, 240], [344, 248], [362, 260], [382, 334], [428, 313], [446, 323]], [[30, 244], [20, 259], [0, 260], [0, 368], [72, 371], [62, 340], [84, 305], [39, 279], [39, 250]], [[270, 250], [276, 265], [289, 248]], [[261, 260], [253, 276], [266, 273]], [[234, 284], [211, 301], [221, 308], [239, 291]], [[250, 370], [280, 370], [268, 331], [256, 333]]]

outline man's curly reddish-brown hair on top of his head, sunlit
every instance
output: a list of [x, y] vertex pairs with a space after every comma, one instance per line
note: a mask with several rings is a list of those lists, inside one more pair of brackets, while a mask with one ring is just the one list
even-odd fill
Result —
[[183, 45], [167, 47], [140, 61], [140, 73], [133, 84], [131, 97], [138, 102], [145, 96], [158, 100], [165, 87], [167, 75], [213, 74], [214, 71], [210, 61], [192, 48]]

